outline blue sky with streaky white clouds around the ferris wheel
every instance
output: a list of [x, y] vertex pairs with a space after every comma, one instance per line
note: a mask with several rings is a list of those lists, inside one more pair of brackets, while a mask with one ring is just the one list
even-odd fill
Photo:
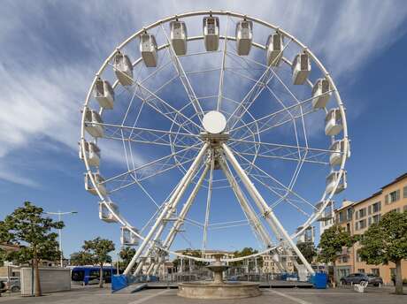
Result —
[[[115, 240], [119, 247], [119, 226], [98, 219], [97, 199], [83, 188], [85, 169], [77, 151], [81, 107], [88, 87], [104, 58], [120, 42], [157, 19], [184, 11], [226, 10], [265, 19], [294, 34], [319, 57], [345, 103], [351, 141], [346, 164], [349, 186], [335, 197], [338, 204], [343, 199], [363, 199], [407, 171], [403, 71], [407, 66], [407, 6], [403, 0], [256, 1], [256, 5], [245, 1], [5, 1], [2, 6], [0, 218], [23, 201], [33, 201], [47, 211], [78, 211], [64, 218], [65, 255], [79, 250], [83, 240], [99, 235]], [[191, 33], [200, 27], [191, 25]], [[125, 99], [126, 94], [122, 92], [119, 98]], [[161, 96], [171, 100], [178, 94], [164, 91]], [[144, 115], [149, 120], [149, 112]], [[283, 135], [278, 133], [275, 139]], [[114, 145], [105, 147], [110, 153], [102, 154], [106, 158], [104, 172], [123, 171], [123, 151]], [[156, 153], [141, 148], [134, 158], [143, 163]], [[263, 161], [259, 165], [268, 164]], [[288, 167], [275, 166], [273, 170], [280, 170], [284, 179]], [[320, 176], [326, 171], [319, 172], [318, 179], [317, 173], [308, 172], [299, 179], [298, 188], [313, 199], [313, 189], [325, 184]], [[149, 182], [147, 187], [161, 203], [171, 183], [179, 178], [180, 174], [174, 173]], [[141, 229], [155, 207], [139, 193], [120, 195], [120, 209]], [[200, 194], [198, 200], [205, 202], [205, 195]], [[234, 211], [233, 195], [214, 190], [214, 197], [213, 222], [242, 218], [242, 213], [239, 217]], [[203, 221], [204, 203], [191, 212], [191, 217]], [[293, 232], [299, 221], [289, 211], [282, 211], [281, 222], [288, 231]], [[198, 232], [194, 227], [188, 229], [190, 237], [196, 237], [192, 246], [198, 247]], [[209, 245], [226, 250], [255, 247], [245, 233], [241, 228], [224, 235], [215, 233]], [[230, 238], [231, 244], [224, 246], [224, 238]], [[174, 246], [188, 244], [190, 240], [180, 240]]]

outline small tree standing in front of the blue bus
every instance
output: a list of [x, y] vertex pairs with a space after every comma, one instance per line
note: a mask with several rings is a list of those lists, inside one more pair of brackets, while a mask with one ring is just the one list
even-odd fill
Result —
[[114, 243], [110, 239], [101, 239], [97, 237], [92, 240], [85, 240], [83, 249], [92, 255], [93, 262], [100, 266], [99, 287], [104, 286], [104, 263], [111, 262], [109, 253], [114, 250]]

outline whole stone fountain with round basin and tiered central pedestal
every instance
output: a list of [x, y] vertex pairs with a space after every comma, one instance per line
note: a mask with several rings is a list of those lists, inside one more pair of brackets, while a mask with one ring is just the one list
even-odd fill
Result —
[[207, 266], [213, 272], [213, 281], [180, 283], [178, 285], [179, 296], [195, 299], [238, 299], [256, 297], [261, 294], [257, 283], [224, 282], [223, 271], [227, 270], [229, 266], [220, 261], [223, 254], [213, 256], [215, 262]]

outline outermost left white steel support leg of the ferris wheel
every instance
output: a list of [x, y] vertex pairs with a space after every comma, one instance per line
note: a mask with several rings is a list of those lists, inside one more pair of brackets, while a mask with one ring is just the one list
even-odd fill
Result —
[[171, 196], [170, 200], [165, 203], [165, 207], [164, 207], [163, 211], [160, 213], [160, 215], [157, 217], [156, 223], [151, 227], [150, 232], [142, 240], [142, 244], [140, 245], [137, 252], [133, 256], [132, 260], [127, 265], [127, 268], [124, 272], [125, 275], [128, 275], [130, 273], [130, 271], [132, 270], [132, 268], [134, 266], [134, 263], [142, 255], [142, 252], [144, 251], [145, 247], [147, 247], [147, 245], [150, 243], [150, 240], [151, 240], [153, 234], [157, 231], [157, 228], [161, 224], [165, 224], [165, 223], [163, 223], [163, 220], [164, 220], [165, 216], [168, 214], [168, 211], [170, 211], [171, 209], [174, 209], [176, 207], [178, 201], [180, 201], [180, 194], [185, 191], [190, 180], [194, 177], [194, 174], [198, 168], [198, 165], [201, 162], [202, 158], [204, 157], [208, 147], [209, 147], [209, 143], [205, 142], [204, 147], [199, 151], [198, 155], [196, 156], [196, 159], [191, 164], [188, 171], [185, 173], [184, 177], [180, 180], [180, 184], [177, 186], [177, 188], [173, 192], [173, 195]]

